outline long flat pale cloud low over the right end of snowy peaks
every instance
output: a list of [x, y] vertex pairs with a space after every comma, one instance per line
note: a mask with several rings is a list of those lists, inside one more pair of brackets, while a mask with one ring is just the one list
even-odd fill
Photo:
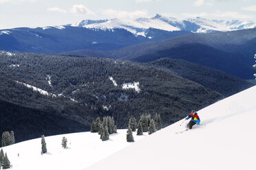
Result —
[[240, 14], [238, 12], [232, 12], [232, 11], [226, 11], [226, 12], [220, 12], [220, 11], [216, 11], [214, 13], [207, 13], [207, 12], [201, 12], [199, 14], [188, 14], [188, 13], [184, 13], [182, 14], [182, 16], [186, 16], [186, 17], [215, 17], [215, 18], [232, 18], [232, 19], [252, 19], [253, 16], [251, 15], [246, 15], [246, 14]]

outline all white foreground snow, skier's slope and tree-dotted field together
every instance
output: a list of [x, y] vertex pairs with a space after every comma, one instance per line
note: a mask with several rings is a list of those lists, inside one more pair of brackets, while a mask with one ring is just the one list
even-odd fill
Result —
[[[150, 136], [125, 141], [126, 130], [102, 142], [89, 132], [45, 138], [3, 147], [12, 169], [256, 169], [256, 86], [198, 111], [202, 125], [184, 130], [178, 121]], [[67, 137], [68, 149], [61, 148]]]

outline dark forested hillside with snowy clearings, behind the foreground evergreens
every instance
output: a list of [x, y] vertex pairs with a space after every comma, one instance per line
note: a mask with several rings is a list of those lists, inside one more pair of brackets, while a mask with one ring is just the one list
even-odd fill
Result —
[[[122, 128], [132, 115], [139, 119], [142, 114], [158, 113], [166, 126], [191, 109], [223, 98], [170, 71], [120, 60], [1, 51], [0, 69], [5, 75], [0, 93], [5, 104], [1, 107], [12, 115], [5, 119], [12, 123], [1, 127], [1, 132], [15, 132], [21, 123], [24, 129], [30, 128], [30, 137], [89, 130], [93, 119], [105, 115], [113, 116]], [[40, 89], [45, 91], [40, 94]], [[24, 109], [9, 112], [9, 106]], [[15, 118], [24, 115], [30, 120], [30, 114], [35, 115], [32, 121]], [[39, 123], [42, 119], [48, 124]], [[25, 134], [17, 141], [30, 137]]]

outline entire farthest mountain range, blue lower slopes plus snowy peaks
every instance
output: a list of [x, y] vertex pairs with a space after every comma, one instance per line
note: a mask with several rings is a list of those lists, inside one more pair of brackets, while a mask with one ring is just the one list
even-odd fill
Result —
[[54, 54], [78, 49], [105, 51], [186, 34], [226, 32], [255, 26], [250, 21], [175, 19], [159, 14], [132, 20], [84, 20], [54, 27], [1, 29], [0, 50]]

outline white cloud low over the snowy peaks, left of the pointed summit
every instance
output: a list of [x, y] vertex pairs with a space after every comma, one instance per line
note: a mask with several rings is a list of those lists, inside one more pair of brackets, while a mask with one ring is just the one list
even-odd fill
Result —
[[127, 11], [119, 11], [119, 10], [104, 10], [103, 14], [111, 17], [118, 17], [118, 18], [138, 18], [143, 16], [148, 16], [147, 10], [136, 10], [133, 12]]

